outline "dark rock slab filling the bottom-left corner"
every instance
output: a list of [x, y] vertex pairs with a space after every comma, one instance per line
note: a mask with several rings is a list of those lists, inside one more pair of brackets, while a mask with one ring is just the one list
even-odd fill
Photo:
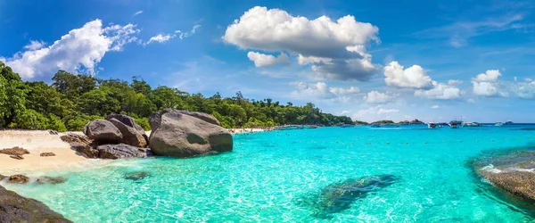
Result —
[[0, 186], [0, 222], [71, 222], [43, 202], [23, 197]]

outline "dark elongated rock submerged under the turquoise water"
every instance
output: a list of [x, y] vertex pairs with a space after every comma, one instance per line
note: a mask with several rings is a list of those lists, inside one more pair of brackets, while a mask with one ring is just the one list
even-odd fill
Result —
[[366, 194], [391, 186], [398, 179], [393, 175], [378, 175], [350, 178], [325, 186], [315, 196], [316, 201], [312, 202], [313, 208], [317, 210], [314, 215], [321, 219], [332, 218], [333, 213], [349, 209], [353, 202], [366, 197]]

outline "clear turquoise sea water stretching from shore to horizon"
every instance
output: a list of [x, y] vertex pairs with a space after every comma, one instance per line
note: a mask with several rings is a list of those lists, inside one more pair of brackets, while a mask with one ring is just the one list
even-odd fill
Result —
[[[75, 222], [529, 222], [532, 211], [472, 163], [534, 138], [527, 125], [273, 131], [235, 136], [232, 153], [114, 161], [48, 173], [67, 178], [59, 185], [6, 187]], [[125, 178], [139, 171], [150, 176]]]

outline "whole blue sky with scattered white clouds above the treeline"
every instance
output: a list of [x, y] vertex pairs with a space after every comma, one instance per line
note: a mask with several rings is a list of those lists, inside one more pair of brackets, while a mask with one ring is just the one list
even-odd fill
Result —
[[535, 122], [532, 1], [8, 1], [0, 61], [353, 120]]

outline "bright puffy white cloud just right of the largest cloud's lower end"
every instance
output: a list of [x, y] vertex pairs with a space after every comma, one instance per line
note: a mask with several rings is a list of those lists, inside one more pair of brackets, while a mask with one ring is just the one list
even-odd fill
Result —
[[383, 69], [384, 82], [391, 87], [428, 88], [432, 87], [432, 79], [425, 74], [425, 70], [413, 65], [405, 70], [399, 62], [391, 62]]

